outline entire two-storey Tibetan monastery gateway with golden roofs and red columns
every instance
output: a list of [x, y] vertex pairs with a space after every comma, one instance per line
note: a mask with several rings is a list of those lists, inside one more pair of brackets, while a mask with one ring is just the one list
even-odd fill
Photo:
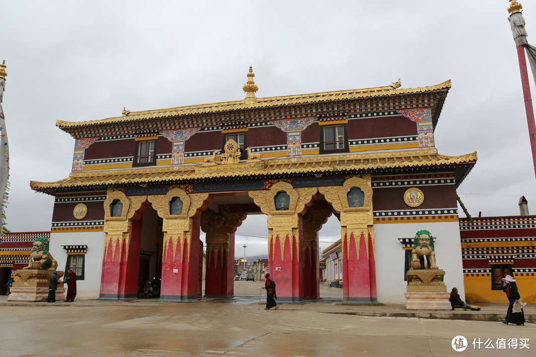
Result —
[[[477, 154], [437, 153], [450, 81], [257, 98], [250, 67], [238, 101], [58, 120], [75, 141], [71, 172], [32, 181], [55, 197], [50, 252], [79, 276], [80, 298], [163, 301], [233, 291], [234, 232], [267, 219], [279, 302], [320, 297], [318, 231], [340, 222], [344, 300], [404, 303], [408, 247], [430, 231], [463, 297], [456, 188]], [[411, 250], [411, 249], [410, 249]], [[58, 268], [59, 269], [59, 268]]]

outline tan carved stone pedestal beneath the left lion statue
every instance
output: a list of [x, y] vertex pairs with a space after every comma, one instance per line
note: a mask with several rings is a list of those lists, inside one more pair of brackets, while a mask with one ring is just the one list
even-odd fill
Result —
[[[48, 284], [54, 271], [38, 269], [17, 270], [18, 280], [11, 286], [11, 294], [8, 301], [43, 301], [48, 297]], [[56, 271], [58, 279], [63, 276], [63, 271]], [[56, 301], [65, 300], [65, 288], [58, 284]]]

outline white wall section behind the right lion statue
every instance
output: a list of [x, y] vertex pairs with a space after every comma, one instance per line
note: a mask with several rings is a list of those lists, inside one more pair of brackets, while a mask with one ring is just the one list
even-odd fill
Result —
[[445, 271], [447, 292], [457, 287], [460, 298], [465, 301], [458, 222], [375, 224], [378, 301], [405, 302], [404, 250], [398, 238], [413, 238], [420, 230], [428, 230], [436, 237], [436, 262]]

